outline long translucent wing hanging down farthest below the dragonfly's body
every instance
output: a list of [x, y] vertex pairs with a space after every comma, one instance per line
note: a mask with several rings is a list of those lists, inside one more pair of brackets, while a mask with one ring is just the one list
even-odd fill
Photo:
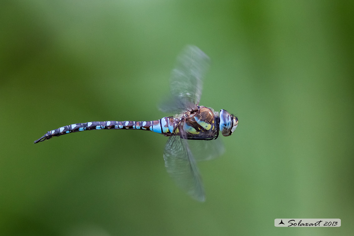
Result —
[[167, 172], [194, 199], [204, 202], [205, 194], [198, 168], [186, 139], [170, 136], [164, 150]]

